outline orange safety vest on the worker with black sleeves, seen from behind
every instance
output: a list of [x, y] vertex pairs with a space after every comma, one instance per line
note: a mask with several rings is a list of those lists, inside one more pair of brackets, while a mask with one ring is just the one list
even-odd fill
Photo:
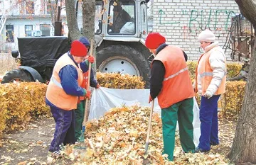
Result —
[[161, 108], [169, 108], [174, 103], [194, 96], [188, 67], [180, 47], [166, 46], [154, 60], [161, 61], [165, 68], [163, 86], [157, 96]]

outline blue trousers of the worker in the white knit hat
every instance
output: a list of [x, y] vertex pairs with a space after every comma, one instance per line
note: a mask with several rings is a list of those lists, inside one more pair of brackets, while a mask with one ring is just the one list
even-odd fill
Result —
[[210, 142], [219, 144], [218, 140], [218, 99], [220, 95], [211, 98], [201, 97], [200, 121], [201, 136], [198, 147], [210, 150]]

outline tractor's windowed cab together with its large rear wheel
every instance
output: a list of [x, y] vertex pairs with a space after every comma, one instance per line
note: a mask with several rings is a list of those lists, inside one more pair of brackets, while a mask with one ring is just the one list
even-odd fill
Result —
[[[97, 69], [142, 76], [149, 87], [151, 53], [144, 45], [148, 33], [149, 0], [96, 0], [95, 42]], [[82, 1], [77, 1], [78, 27], [82, 33]]]

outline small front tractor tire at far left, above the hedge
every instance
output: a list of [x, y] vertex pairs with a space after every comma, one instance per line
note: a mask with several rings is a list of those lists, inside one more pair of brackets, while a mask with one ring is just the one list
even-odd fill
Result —
[[1, 84], [11, 83], [13, 81], [34, 81], [31, 74], [23, 69], [14, 69], [4, 75]]

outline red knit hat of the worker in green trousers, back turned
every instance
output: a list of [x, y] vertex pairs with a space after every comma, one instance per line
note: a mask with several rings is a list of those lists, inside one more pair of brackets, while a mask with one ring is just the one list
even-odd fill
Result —
[[166, 39], [164, 38], [163, 35], [159, 33], [149, 33], [149, 35], [146, 37], [145, 45], [149, 49], [156, 49], [165, 42]]

